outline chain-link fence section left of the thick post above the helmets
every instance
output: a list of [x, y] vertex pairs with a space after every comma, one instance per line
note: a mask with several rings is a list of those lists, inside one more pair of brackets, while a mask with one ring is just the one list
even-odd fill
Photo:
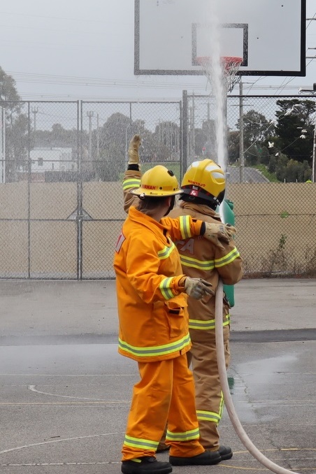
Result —
[[1, 106], [0, 277], [112, 278], [129, 141], [180, 175], [180, 102]]

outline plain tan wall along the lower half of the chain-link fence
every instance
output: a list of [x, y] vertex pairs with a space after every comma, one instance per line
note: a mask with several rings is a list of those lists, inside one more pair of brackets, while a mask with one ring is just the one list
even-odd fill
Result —
[[[76, 183], [0, 184], [0, 277], [76, 278]], [[316, 185], [231, 184], [236, 245], [248, 274], [316, 273]], [[120, 182], [85, 182], [82, 278], [112, 278], [125, 214]]]

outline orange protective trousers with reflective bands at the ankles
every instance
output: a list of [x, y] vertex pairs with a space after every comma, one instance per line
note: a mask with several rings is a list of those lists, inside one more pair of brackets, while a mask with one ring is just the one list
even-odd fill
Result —
[[141, 380], [134, 385], [122, 461], [155, 452], [168, 419], [166, 443], [171, 456], [192, 457], [204, 451], [199, 443], [194, 380], [187, 354], [157, 362], [138, 362]]

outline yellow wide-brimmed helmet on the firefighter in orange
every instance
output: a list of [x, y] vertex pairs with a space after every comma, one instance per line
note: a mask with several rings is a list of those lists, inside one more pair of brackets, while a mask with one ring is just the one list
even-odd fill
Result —
[[178, 180], [172, 171], [160, 164], [150, 168], [141, 178], [141, 185], [133, 189], [131, 194], [143, 197], [163, 197], [182, 194]]

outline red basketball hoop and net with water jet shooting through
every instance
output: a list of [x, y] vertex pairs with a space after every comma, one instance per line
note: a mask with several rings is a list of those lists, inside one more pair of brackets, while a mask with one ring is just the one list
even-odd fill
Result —
[[[211, 79], [213, 76], [212, 59], [209, 56], [199, 56], [196, 58], [196, 62], [199, 64], [199, 66], [201, 66], [204, 74], [208, 78], [208, 82], [211, 84]], [[239, 82], [240, 78], [236, 76], [236, 73], [242, 62], [242, 57], [222, 56], [220, 58], [222, 76], [225, 80], [227, 92], [231, 92], [234, 89], [234, 85]]]

